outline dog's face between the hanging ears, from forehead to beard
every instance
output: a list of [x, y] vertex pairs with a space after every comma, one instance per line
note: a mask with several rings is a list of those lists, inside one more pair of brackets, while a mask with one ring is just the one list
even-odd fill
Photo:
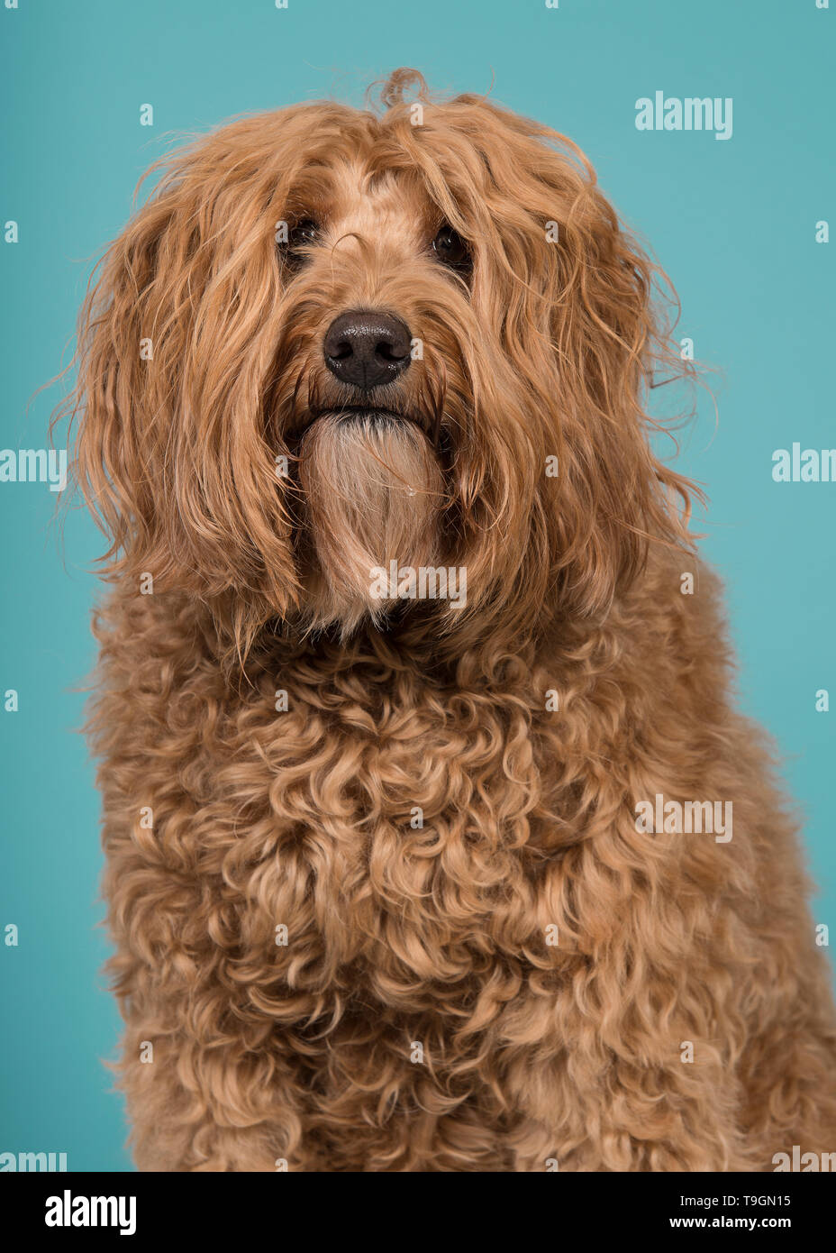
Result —
[[[418, 182], [380, 160], [368, 129], [313, 194], [292, 192], [267, 405], [298, 467], [303, 616], [343, 632], [392, 614], [392, 563], [408, 580], [456, 559], [453, 476], [473, 412], [468, 246]], [[456, 593], [436, 608], [463, 609], [458, 579]]]

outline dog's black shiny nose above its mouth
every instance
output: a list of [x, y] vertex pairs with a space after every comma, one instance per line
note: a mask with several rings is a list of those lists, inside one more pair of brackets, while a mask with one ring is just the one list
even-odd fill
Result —
[[394, 382], [409, 365], [410, 348], [409, 327], [392, 313], [373, 309], [340, 313], [328, 327], [323, 343], [332, 375], [363, 391]]

